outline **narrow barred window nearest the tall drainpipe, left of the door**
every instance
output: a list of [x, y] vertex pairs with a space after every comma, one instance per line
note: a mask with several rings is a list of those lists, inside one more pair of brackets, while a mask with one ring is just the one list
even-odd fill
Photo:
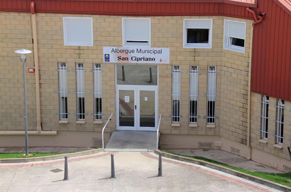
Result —
[[60, 96], [60, 119], [68, 119], [68, 86], [66, 63], [58, 63], [58, 84]]

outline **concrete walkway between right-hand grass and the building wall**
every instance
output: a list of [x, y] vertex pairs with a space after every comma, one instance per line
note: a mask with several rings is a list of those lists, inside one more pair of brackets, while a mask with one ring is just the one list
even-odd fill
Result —
[[233, 153], [228, 153], [221, 149], [166, 149], [166, 150], [180, 155], [204, 157], [207, 159], [218, 161], [220, 163], [224, 163], [226, 165], [240, 167], [248, 170], [268, 173], [285, 173], [272, 167], [268, 167], [267, 165], [263, 165], [252, 160], [246, 160], [246, 158], [235, 155]]

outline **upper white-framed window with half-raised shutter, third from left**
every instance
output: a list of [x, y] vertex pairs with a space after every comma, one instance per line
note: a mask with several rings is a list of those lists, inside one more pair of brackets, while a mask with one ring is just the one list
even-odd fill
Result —
[[184, 48], [212, 47], [212, 19], [184, 19]]

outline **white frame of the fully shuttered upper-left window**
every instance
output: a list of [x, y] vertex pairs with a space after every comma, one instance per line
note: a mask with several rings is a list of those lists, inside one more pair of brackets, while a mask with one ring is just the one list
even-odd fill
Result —
[[[69, 43], [67, 41], [66, 19], [91, 20], [91, 43]], [[76, 26], [78, 29], [78, 26]], [[92, 17], [63, 17], [64, 45], [66, 46], [93, 46], [93, 18]]]

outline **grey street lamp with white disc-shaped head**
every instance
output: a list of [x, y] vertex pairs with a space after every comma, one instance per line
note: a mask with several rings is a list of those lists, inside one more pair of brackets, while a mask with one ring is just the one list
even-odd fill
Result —
[[24, 63], [26, 62], [25, 54], [31, 53], [30, 50], [20, 49], [14, 51], [15, 53], [21, 54], [20, 60], [22, 62], [22, 71], [23, 71], [23, 95], [24, 95], [24, 121], [25, 121], [25, 156], [28, 156], [28, 137], [27, 137], [27, 111], [26, 111], [26, 86], [25, 86], [25, 67]]

